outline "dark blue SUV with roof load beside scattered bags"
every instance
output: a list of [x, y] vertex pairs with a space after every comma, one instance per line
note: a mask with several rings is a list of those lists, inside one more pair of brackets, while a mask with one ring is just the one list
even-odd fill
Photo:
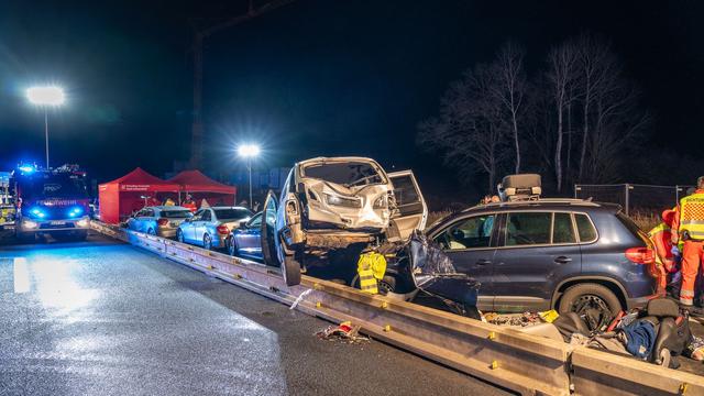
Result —
[[652, 246], [617, 205], [578, 199], [481, 205], [440, 220], [427, 235], [458, 272], [481, 282], [481, 310], [554, 308], [607, 320], [656, 293]]

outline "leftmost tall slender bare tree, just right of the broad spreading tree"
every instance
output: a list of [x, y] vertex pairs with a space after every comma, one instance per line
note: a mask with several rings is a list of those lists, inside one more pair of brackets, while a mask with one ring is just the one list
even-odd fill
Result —
[[525, 112], [526, 74], [524, 72], [524, 50], [514, 42], [507, 42], [498, 52], [497, 59], [492, 64], [492, 73], [496, 82], [492, 85], [492, 95], [504, 107], [507, 123], [514, 139], [516, 152], [515, 170], [520, 173], [520, 133], [518, 124]]

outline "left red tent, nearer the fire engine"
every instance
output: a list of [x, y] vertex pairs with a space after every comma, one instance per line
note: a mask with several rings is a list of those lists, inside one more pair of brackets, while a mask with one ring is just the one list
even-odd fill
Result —
[[142, 168], [98, 187], [100, 219], [117, 224], [145, 204], [154, 205], [167, 196], [178, 194], [179, 186], [152, 176]]

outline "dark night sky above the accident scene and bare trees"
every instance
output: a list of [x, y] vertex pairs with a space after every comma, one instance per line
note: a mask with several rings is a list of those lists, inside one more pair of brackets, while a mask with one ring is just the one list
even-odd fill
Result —
[[[696, 157], [704, 143], [702, 6], [575, 3], [299, 0], [223, 31], [205, 50], [208, 167], [240, 166], [233, 147], [258, 141], [261, 166], [363, 155], [387, 168], [413, 167], [425, 188], [448, 188], [452, 170], [415, 144], [416, 124], [437, 113], [448, 84], [509, 38], [526, 47], [536, 73], [551, 45], [584, 31], [610, 40], [642, 88], [656, 119], [646, 153]], [[174, 160], [187, 160], [189, 21], [237, 15], [245, 4], [2, 1], [0, 169], [42, 162], [43, 117], [23, 95], [45, 82], [68, 94], [50, 113], [54, 165], [79, 163], [105, 182], [135, 166], [163, 175]]]

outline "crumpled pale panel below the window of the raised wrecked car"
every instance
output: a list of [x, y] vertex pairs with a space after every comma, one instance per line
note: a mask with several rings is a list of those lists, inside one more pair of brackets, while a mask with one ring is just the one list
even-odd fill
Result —
[[[345, 186], [305, 178], [304, 184], [309, 191], [308, 220], [336, 224], [342, 229], [380, 229], [388, 227], [391, 211], [385, 209], [374, 209], [374, 201], [384, 195], [388, 195], [391, 186], [367, 185], [348, 188]], [[316, 197], [312, 199], [310, 193]], [[339, 196], [351, 199], [359, 199], [361, 208], [350, 208], [343, 206], [332, 206], [327, 202], [327, 195]]]

